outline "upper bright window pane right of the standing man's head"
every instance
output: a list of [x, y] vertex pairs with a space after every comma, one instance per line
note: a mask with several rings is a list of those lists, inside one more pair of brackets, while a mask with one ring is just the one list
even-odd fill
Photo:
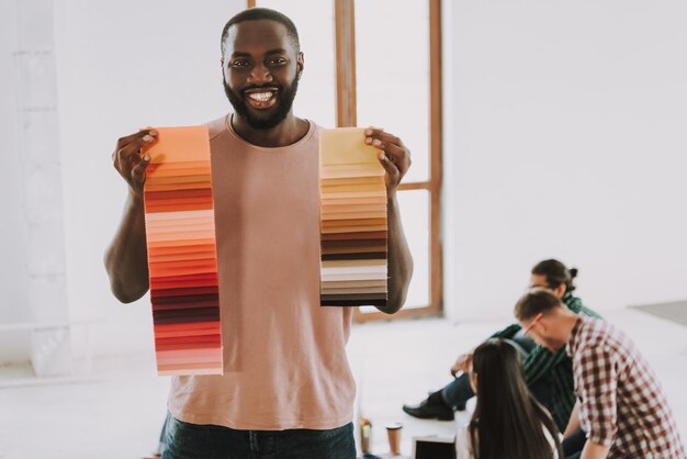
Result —
[[429, 180], [428, 0], [357, 1], [356, 72], [358, 125], [399, 136], [413, 153], [404, 181]]

